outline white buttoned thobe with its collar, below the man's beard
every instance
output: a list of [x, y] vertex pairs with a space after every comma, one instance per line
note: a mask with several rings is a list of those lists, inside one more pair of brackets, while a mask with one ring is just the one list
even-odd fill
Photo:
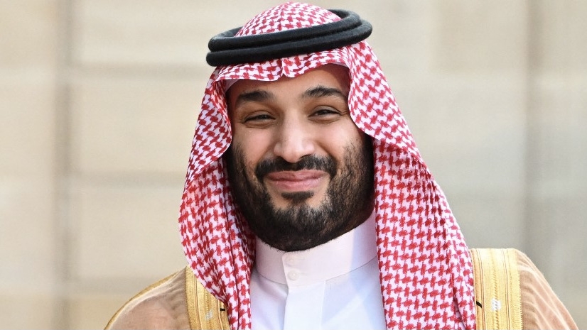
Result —
[[257, 239], [251, 275], [253, 329], [385, 329], [375, 214], [306, 251]]

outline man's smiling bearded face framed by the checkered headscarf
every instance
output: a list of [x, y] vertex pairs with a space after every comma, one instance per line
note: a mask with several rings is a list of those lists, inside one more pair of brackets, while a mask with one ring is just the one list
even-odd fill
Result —
[[348, 92], [348, 70], [324, 65], [274, 82], [239, 80], [227, 93], [232, 195], [275, 248], [318, 246], [372, 211], [372, 145], [350, 118]]

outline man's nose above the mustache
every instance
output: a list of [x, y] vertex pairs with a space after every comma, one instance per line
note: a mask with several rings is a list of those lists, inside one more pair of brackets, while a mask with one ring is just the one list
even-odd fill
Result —
[[273, 152], [289, 163], [297, 163], [303, 156], [316, 151], [311, 127], [303, 119], [286, 119], [276, 132]]

